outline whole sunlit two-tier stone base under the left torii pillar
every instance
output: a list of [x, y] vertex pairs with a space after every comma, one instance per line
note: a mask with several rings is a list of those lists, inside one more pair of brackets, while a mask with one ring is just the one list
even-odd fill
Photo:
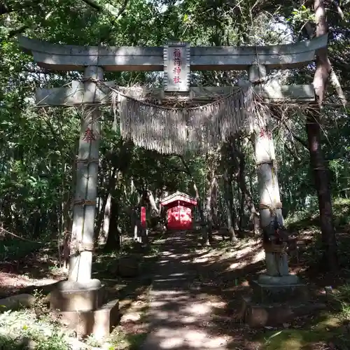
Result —
[[52, 317], [74, 330], [80, 339], [107, 337], [120, 318], [118, 300], [105, 302], [98, 279], [57, 283], [50, 293], [50, 309]]

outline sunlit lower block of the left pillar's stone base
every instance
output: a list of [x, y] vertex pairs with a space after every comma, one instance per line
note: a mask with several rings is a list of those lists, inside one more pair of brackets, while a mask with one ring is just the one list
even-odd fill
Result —
[[94, 335], [96, 339], [104, 339], [119, 322], [119, 301], [111, 300], [94, 311], [54, 310], [52, 317], [58, 319], [70, 330], [76, 331], [79, 339], [89, 335]]

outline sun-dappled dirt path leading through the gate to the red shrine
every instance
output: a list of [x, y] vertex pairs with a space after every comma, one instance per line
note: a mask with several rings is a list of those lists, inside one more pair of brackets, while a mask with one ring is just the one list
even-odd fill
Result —
[[178, 232], [160, 244], [150, 292], [150, 332], [141, 350], [237, 349], [235, 339], [216, 324], [225, 302], [198, 283], [196, 261], [204, 255], [195, 251], [198, 241], [193, 234]]

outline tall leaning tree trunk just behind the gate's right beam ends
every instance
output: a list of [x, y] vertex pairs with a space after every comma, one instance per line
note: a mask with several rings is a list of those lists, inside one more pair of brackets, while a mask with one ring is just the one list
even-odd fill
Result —
[[[325, 6], [323, 0], [314, 0], [314, 12], [316, 19], [316, 37], [328, 33], [328, 24], [325, 18]], [[316, 51], [316, 71], [314, 87], [318, 106], [322, 108], [328, 77], [331, 66], [328, 60], [327, 47]], [[330, 194], [330, 181], [328, 169], [325, 165], [321, 150], [321, 127], [318, 111], [307, 113], [307, 140], [309, 143], [310, 162], [314, 170], [315, 186], [318, 195], [318, 208], [320, 211], [320, 223], [323, 243], [323, 262], [328, 269], [337, 269], [337, 241], [333, 224], [332, 202]]]

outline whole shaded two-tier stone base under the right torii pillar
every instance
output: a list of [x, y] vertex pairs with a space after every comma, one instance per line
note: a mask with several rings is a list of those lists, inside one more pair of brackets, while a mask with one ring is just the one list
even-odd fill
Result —
[[311, 302], [305, 283], [292, 274], [262, 274], [251, 283], [253, 293], [242, 300], [241, 316], [251, 327], [280, 325], [293, 318], [323, 309], [325, 304]]

